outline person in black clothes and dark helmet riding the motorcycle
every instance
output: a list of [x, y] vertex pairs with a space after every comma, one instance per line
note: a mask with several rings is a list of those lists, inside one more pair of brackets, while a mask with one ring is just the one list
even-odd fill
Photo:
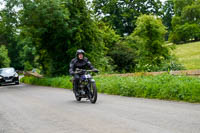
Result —
[[70, 75], [72, 75], [73, 78], [73, 91], [75, 93], [76, 96], [78, 96], [78, 82], [80, 79], [81, 74], [76, 74], [75, 71], [76, 69], [91, 69], [91, 70], [95, 70], [97, 71], [97, 69], [95, 69], [91, 62], [88, 60], [88, 58], [84, 57], [85, 52], [82, 49], [79, 49], [76, 51], [76, 57], [74, 59], [71, 60], [70, 62], [70, 69], [69, 69], [69, 73]]

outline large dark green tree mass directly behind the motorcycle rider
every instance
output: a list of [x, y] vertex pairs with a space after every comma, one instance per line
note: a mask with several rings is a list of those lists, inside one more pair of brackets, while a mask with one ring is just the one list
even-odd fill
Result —
[[36, 50], [33, 60], [44, 74], [67, 74], [80, 48], [95, 66], [106, 67], [102, 36], [84, 0], [23, 0], [22, 6], [20, 36], [31, 40], [27, 47]]

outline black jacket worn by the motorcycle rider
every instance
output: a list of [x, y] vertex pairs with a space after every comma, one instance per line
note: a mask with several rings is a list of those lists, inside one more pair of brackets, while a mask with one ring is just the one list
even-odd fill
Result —
[[76, 68], [79, 69], [94, 69], [88, 58], [84, 57], [83, 60], [79, 60], [78, 58], [72, 59], [70, 62], [70, 69], [69, 73], [70, 75], [74, 75], [74, 71]]

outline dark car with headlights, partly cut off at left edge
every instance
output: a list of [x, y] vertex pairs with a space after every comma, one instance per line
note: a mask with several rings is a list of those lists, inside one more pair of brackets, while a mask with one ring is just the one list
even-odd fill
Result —
[[19, 84], [19, 75], [14, 68], [0, 68], [0, 85], [15, 83]]

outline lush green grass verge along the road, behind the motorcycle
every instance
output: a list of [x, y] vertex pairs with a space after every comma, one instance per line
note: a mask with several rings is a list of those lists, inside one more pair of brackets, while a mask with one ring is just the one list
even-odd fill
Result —
[[[24, 77], [22, 82], [28, 84], [72, 88], [70, 77], [33, 78]], [[98, 92], [129, 97], [143, 97], [187, 102], [200, 102], [200, 78], [173, 76], [97, 76]]]

